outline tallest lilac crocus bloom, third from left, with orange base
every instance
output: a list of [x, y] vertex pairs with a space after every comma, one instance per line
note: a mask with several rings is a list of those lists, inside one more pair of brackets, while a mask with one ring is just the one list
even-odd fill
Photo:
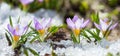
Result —
[[80, 30], [89, 23], [89, 20], [84, 21], [84, 19], [79, 19], [78, 16], [75, 15], [72, 20], [67, 18], [66, 22], [67, 25], [72, 29], [75, 36], [78, 37]]

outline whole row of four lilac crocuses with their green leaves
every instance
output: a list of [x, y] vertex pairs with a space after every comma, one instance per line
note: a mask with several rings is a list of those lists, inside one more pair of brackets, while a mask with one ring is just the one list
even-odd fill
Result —
[[[107, 36], [109, 35], [110, 31], [114, 29], [118, 23], [113, 24], [112, 20], [108, 20], [108, 19], [104, 19], [104, 20], [99, 19], [99, 21], [100, 21], [99, 23], [94, 22], [94, 25], [96, 26], [97, 30], [100, 30], [102, 32], [102, 34], [104, 35], [103, 37], [107, 39]], [[7, 25], [8, 30], [6, 37], [8, 42], [12, 43], [11, 45], [14, 49], [16, 47], [23, 47], [23, 49], [25, 50], [24, 52], [26, 52], [26, 50], [30, 50], [35, 55], [38, 55], [38, 53], [35, 52], [34, 50], [25, 47], [25, 43], [28, 40], [27, 38], [31, 36], [33, 37], [33, 39], [30, 40], [30, 43], [32, 43], [35, 40], [39, 40], [40, 42], [45, 42], [46, 38], [48, 38], [53, 33], [57, 32], [59, 27], [51, 26], [52, 23], [51, 18], [48, 19], [42, 18], [41, 21], [38, 21], [38, 19], [35, 18], [33, 22], [34, 22], [34, 27], [30, 26], [31, 22], [24, 27], [21, 27], [20, 24], [17, 24], [17, 26], [14, 27], [10, 19], [10, 24]], [[73, 19], [67, 18], [66, 22], [67, 22], [67, 26], [71, 29], [70, 37], [72, 41], [74, 43], [80, 43], [80, 37], [83, 36], [84, 34], [86, 35], [85, 31], [89, 30], [89, 29], [85, 30], [85, 27], [88, 25], [90, 20], [89, 19], [84, 20], [83, 18], [80, 19], [77, 15], [75, 15]], [[31, 28], [31, 30], [28, 32], [29, 27]], [[94, 35], [92, 36], [93, 38], [96, 37], [95, 39], [99, 39], [99, 34], [96, 34], [96, 32], [92, 32], [89, 30], [89, 33]], [[9, 37], [11, 38], [8, 37], [8, 34]], [[87, 36], [87, 38], [89, 39], [90, 37], [91, 36]], [[99, 40], [101, 40], [101, 38]]]

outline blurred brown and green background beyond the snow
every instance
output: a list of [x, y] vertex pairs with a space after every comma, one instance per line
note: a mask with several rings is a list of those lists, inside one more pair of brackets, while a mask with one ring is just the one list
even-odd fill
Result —
[[[25, 0], [24, 0], [25, 1]], [[77, 14], [80, 18], [92, 19], [92, 15], [98, 13], [99, 18], [109, 18], [114, 22], [120, 22], [120, 0], [34, 0], [28, 4], [22, 3], [20, 0], [0, 0], [0, 3], [9, 4], [12, 9], [20, 8], [27, 13], [34, 13], [37, 17], [42, 17], [39, 13], [40, 9], [52, 13], [55, 11], [62, 17], [64, 23], [66, 18], [72, 18]], [[92, 27], [92, 25], [90, 26]], [[120, 35], [120, 24], [118, 24], [116, 36]]]

